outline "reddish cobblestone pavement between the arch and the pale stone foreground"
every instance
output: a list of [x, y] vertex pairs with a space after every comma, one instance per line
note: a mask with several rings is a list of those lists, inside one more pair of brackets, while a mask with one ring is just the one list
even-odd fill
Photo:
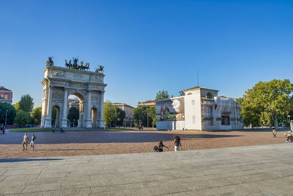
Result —
[[[0, 158], [50, 157], [153, 152], [159, 141], [174, 151], [173, 138], [179, 135], [184, 151], [285, 143], [284, 132], [276, 138], [270, 131], [65, 131], [35, 132], [35, 151], [22, 150], [23, 132], [0, 134]], [[32, 132], [28, 132], [31, 137]]]

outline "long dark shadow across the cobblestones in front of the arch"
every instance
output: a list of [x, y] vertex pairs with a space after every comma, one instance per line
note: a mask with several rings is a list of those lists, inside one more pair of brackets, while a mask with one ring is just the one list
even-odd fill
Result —
[[[19, 144], [23, 139], [22, 132], [9, 132], [0, 135], [1, 145]], [[241, 137], [238, 133], [207, 133], [207, 132], [184, 132], [184, 131], [78, 131], [65, 133], [35, 132], [36, 145], [39, 144], [70, 144], [70, 143], [141, 143], [174, 140], [178, 135], [181, 139], [200, 138], [227, 138]], [[29, 136], [30, 137], [30, 136]], [[28, 142], [29, 145], [29, 142]]]

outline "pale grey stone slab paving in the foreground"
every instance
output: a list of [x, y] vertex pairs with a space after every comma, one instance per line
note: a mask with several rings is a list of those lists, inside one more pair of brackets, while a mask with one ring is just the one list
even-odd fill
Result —
[[292, 196], [292, 144], [0, 159], [0, 195]]

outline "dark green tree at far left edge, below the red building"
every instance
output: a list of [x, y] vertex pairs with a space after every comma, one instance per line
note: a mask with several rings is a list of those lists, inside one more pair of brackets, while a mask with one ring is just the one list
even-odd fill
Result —
[[[6, 118], [6, 111], [7, 111], [7, 118]], [[12, 125], [13, 120], [16, 116], [16, 112], [17, 112], [16, 109], [11, 104], [0, 102], [0, 124], [5, 124], [5, 118], [6, 118], [6, 125]]]

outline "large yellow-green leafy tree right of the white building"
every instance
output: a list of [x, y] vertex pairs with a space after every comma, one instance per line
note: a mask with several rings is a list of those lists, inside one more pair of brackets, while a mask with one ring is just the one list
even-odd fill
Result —
[[293, 85], [288, 79], [258, 82], [243, 96], [241, 113], [244, 124], [250, 122], [256, 125], [272, 120], [277, 127], [278, 119], [284, 118], [292, 109], [289, 96], [292, 91]]

